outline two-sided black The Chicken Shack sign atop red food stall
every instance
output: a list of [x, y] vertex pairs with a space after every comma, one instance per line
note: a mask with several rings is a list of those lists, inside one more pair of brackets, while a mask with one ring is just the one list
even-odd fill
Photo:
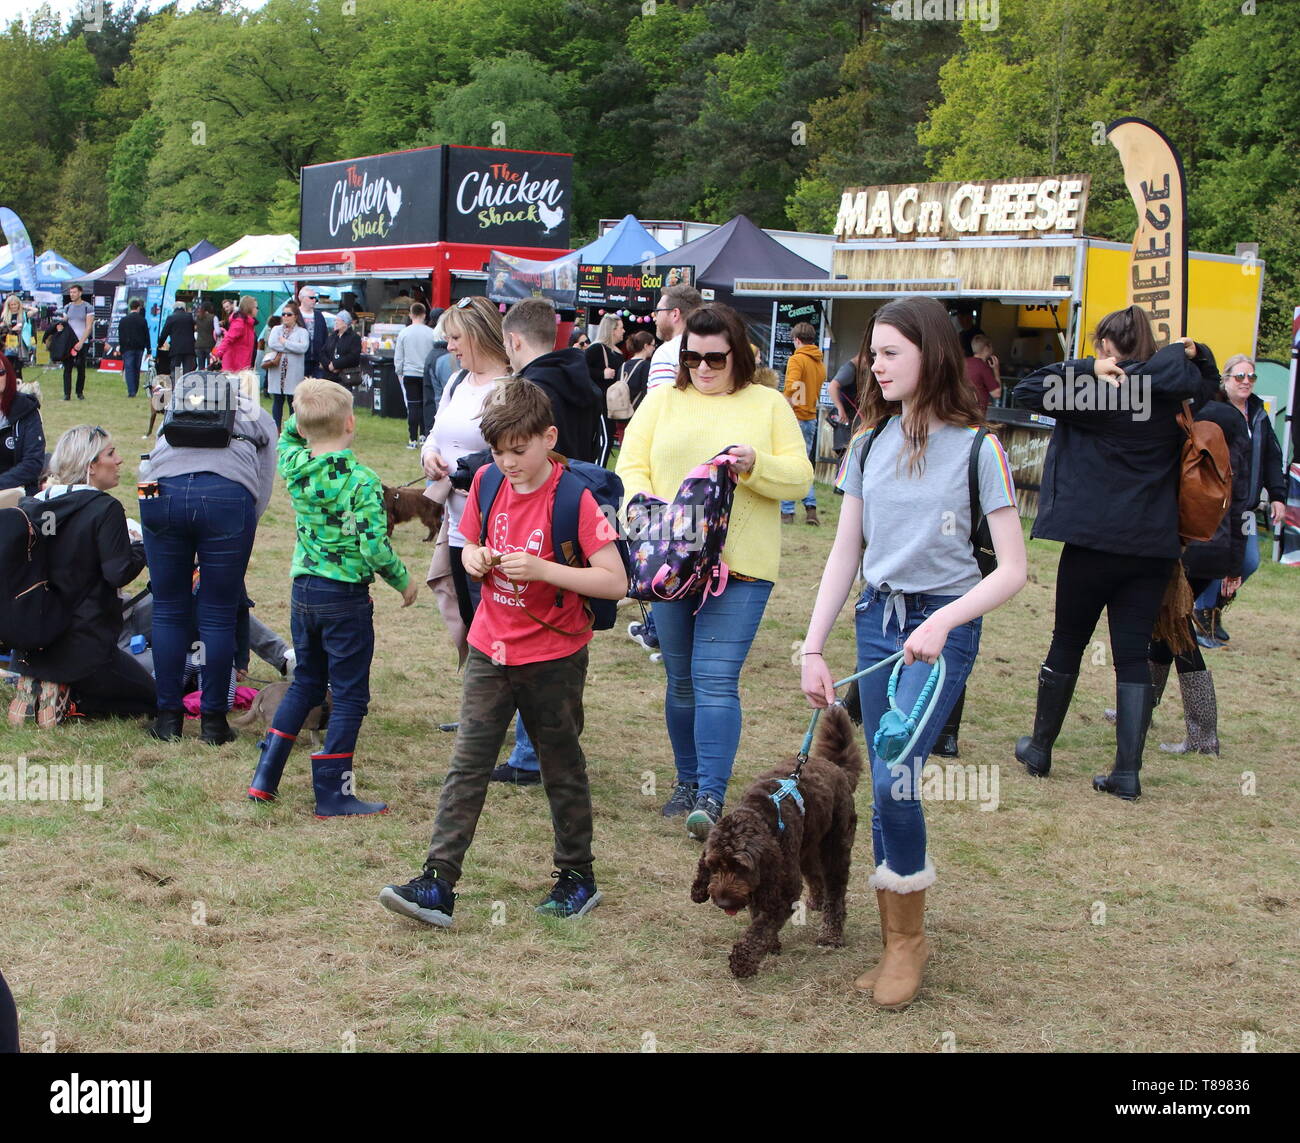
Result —
[[573, 156], [421, 147], [302, 169], [302, 250], [473, 242], [567, 248]]

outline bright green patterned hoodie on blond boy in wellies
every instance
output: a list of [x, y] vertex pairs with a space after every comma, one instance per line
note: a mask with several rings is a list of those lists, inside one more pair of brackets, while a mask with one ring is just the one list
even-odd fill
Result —
[[312, 456], [291, 416], [280, 434], [280, 475], [298, 523], [290, 575], [368, 584], [377, 572], [406, 590], [406, 564], [389, 544], [384, 485], [351, 449]]

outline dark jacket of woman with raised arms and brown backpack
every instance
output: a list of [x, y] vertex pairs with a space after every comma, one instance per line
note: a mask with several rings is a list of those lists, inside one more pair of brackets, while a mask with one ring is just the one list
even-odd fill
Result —
[[[1015, 386], [1017, 404], [1056, 419], [1034, 536], [1117, 555], [1179, 557], [1186, 434], [1175, 417], [1183, 401], [1196, 410], [1218, 385], [1209, 347], [1196, 348], [1195, 360], [1175, 342], [1148, 361], [1121, 361], [1130, 384], [1118, 390], [1092, 376], [1096, 358], [1048, 365]], [[1119, 394], [1128, 398], [1123, 408]]]

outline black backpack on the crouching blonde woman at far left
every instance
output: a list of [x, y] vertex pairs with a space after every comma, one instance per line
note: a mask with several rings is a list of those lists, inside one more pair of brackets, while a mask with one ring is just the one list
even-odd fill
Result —
[[36, 651], [72, 623], [75, 602], [49, 583], [43, 502], [27, 498], [0, 510], [0, 646]]

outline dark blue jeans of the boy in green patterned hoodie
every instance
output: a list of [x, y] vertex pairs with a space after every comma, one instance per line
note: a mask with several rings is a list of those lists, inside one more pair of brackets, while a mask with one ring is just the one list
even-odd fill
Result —
[[272, 727], [296, 736], [312, 707], [332, 703], [322, 754], [351, 754], [370, 709], [374, 605], [369, 584], [296, 576], [290, 603], [294, 681], [280, 701]]

